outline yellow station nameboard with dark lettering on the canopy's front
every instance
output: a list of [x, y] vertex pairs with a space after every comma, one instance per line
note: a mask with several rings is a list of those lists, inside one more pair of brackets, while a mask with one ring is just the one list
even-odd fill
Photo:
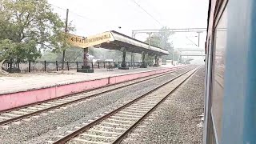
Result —
[[68, 42], [72, 46], [78, 46], [81, 48], [87, 48], [90, 46], [97, 46], [104, 42], [114, 41], [114, 38], [110, 32], [105, 32], [102, 34], [96, 34], [87, 38], [83, 38], [81, 36], [77, 36], [74, 34], [70, 34], [68, 38]]

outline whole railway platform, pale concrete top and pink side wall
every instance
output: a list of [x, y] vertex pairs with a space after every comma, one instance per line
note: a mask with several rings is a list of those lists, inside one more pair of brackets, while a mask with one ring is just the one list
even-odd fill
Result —
[[147, 69], [115, 69], [114, 71], [96, 69], [94, 73], [77, 73], [70, 70], [63, 73], [19, 74], [0, 77], [0, 101], [2, 102], [0, 111], [161, 74], [182, 67], [184, 66], [160, 66]]

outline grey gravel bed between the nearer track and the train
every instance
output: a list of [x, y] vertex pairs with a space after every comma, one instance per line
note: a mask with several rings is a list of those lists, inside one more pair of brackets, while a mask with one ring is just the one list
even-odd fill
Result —
[[[197, 125], [202, 118], [199, 115], [203, 113], [204, 70], [199, 69], [189, 81], [167, 98], [156, 109], [158, 116], [142, 132], [136, 132], [139, 134], [137, 137], [133, 140], [125, 139], [121, 143], [201, 144], [202, 127]], [[145, 126], [143, 122], [141, 125]], [[132, 136], [128, 135], [128, 138]]]

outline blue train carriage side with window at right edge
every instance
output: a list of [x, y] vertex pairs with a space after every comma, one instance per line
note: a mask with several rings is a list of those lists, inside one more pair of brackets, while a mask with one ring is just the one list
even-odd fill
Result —
[[256, 2], [210, 1], [204, 143], [256, 143]]

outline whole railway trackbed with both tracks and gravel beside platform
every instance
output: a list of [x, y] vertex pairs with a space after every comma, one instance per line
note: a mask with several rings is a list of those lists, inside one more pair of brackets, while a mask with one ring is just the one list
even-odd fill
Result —
[[202, 66], [186, 66], [2, 111], [0, 139], [49, 144], [202, 143], [204, 71]]

